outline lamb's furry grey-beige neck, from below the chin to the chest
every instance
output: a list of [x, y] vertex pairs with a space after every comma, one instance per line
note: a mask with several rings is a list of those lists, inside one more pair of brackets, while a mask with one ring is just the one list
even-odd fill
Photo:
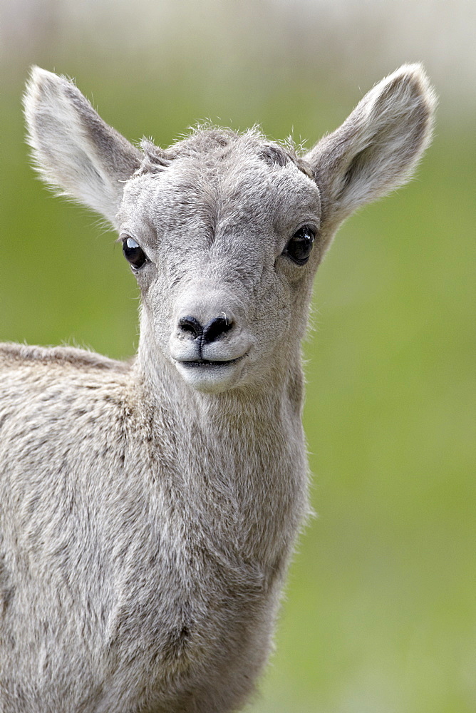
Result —
[[201, 394], [148, 344], [141, 341], [135, 369], [152, 434], [163, 441], [164, 424], [173, 434], [177, 498], [186, 493], [204, 529], [213, 523], [217, 543], [231, 538], [241, 556], [273, 565], [306, 511], [300, 359], [287, 360], [287, 370], [274, 364], [264, 386]]

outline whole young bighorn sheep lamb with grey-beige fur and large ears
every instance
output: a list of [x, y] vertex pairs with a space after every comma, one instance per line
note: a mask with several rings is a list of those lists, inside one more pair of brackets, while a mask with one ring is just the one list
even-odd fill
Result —
[[34, 68], [41, 175], [119, 232], [127, 363], [0, 347], [0, 709], [224, 713], [262, 671], [308, 511], [301, 339], [338, 225], [430, 140], [423, 69], [300, 155], [259, 130], [162, 149]]

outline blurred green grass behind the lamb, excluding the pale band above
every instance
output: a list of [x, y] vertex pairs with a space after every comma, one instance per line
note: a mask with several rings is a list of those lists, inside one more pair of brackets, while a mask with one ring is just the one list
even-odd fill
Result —
[[[204, 116], [318, 138], [356, 99], [324, 96], [318, 113], [304, 86], [255, 91], [247, 106], [232, 91], [180, 92], [94, 94], [129, 138], [161, 143]], [[33, 178], [20, 93], [1, 118], [0, 339], [133, 354], [138, 293], [115, 235]], [[344, 225], [319, 272], [305, 349], [319, 518], [254, 713], [476, 708], [474, 158], [464, 126], [441, 128], [418, 179]]]

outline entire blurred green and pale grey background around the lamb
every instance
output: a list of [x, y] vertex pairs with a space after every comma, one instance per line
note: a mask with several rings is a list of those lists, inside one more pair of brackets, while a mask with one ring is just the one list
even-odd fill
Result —
[[423, 60], [440, 108], [398, 193], [348, 220], [316, 280], [305, 426], [318, 517], [249, 713], [474, 713], [475, 8], [463, 0], [2, 0], [0, 339], [137, 345], [115, 235], [29, 167], [31, 63], [130, 139], [196, 120], [312, 145]]

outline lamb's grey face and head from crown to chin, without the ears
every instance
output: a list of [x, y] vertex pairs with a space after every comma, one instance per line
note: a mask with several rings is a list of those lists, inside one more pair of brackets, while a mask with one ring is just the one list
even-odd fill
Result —
[[119, 232], [157, 349], [195, 389], [220, 391], [266, 378], [302, 337], [321, 204], [299, 162], [256, 133], [206, 134], [206, 155], [125, 184]]

